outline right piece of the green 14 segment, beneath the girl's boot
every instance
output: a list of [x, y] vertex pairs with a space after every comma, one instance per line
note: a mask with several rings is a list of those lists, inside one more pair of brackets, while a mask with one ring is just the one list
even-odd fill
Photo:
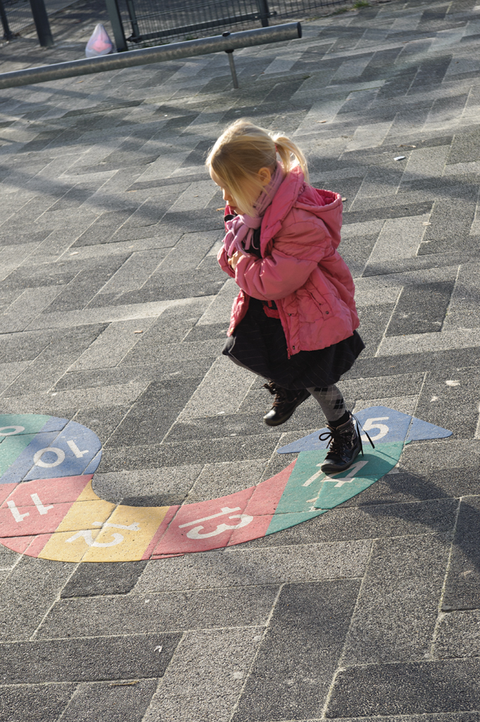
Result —
[[[332, 477], [321, 474], [318, 479], [320, 482], [318, 496], [313, 503], [314, 508], [333, 509], [368, 489], [394, 468], [397, 461], [399, 461], [403, 448], [404, 443], [402, 441], [378, 444], [374, 450], [364, 451], [363, 456], [361, 454], [357, 456], [347, 471], [334, 474]], [[298, 466], [298, 461], [295, 468]], [[312, 464], [309, 468], [306, 465], [304, 466], [304, 474], [308, 474], [309, 471], [313, 471], [315, 468]]]

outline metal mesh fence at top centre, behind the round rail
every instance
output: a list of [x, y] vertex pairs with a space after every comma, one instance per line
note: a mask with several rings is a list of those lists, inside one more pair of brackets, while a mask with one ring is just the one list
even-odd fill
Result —
[[301, 18], [348, 0], [117, 0], [128, 47], [205, 38]]

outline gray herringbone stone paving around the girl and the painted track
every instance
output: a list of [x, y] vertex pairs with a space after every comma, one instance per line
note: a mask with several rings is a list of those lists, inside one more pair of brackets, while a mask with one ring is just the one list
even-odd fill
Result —
[[[368, 343], [342, 381], [350, 404], [454, 432], [409, 445], [398, 474], [342, 507], [239, 547], [105, 565], [3, 549], [2, 720], [479, 720], [475, 1], [308, 22], [303, 40], [236, 53], [238, 91], [208, 56], [0, 92], [1, 410], [97, 432], [100, 496], [241, 490], [324, 423], [308, 401], [267, 429], [270, 397], [221, 357], [235, 290], [203, 159], [241, 116], [293, 135], [313, 180], [347, 198], [341, 250]], [[63, 47], [17, 40], [0, 71], [81, 56], [101, 18], [67, 14]]]

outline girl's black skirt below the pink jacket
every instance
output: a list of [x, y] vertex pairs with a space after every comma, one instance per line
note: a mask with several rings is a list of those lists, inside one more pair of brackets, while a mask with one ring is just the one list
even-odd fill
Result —
[[283, 388], [332, 386], [365, 348], [360, 335], [354, 331], [338, 344], [318, 351], [300, 351], [289, 359], [280, 318], [270, 318], [263, 308], [262, 301], [250, 299], [249, 310], [228, 338], [222, 353]]

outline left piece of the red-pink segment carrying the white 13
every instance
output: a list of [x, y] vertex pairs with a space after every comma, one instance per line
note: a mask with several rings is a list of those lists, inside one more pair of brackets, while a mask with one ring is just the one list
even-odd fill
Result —
[[180, 507], [153, 555], [207, 552], [226, 547], [233, 529], [246, 521], [241, 515], [254, 490], [255, 487], [250, 487], [218, 499]]

